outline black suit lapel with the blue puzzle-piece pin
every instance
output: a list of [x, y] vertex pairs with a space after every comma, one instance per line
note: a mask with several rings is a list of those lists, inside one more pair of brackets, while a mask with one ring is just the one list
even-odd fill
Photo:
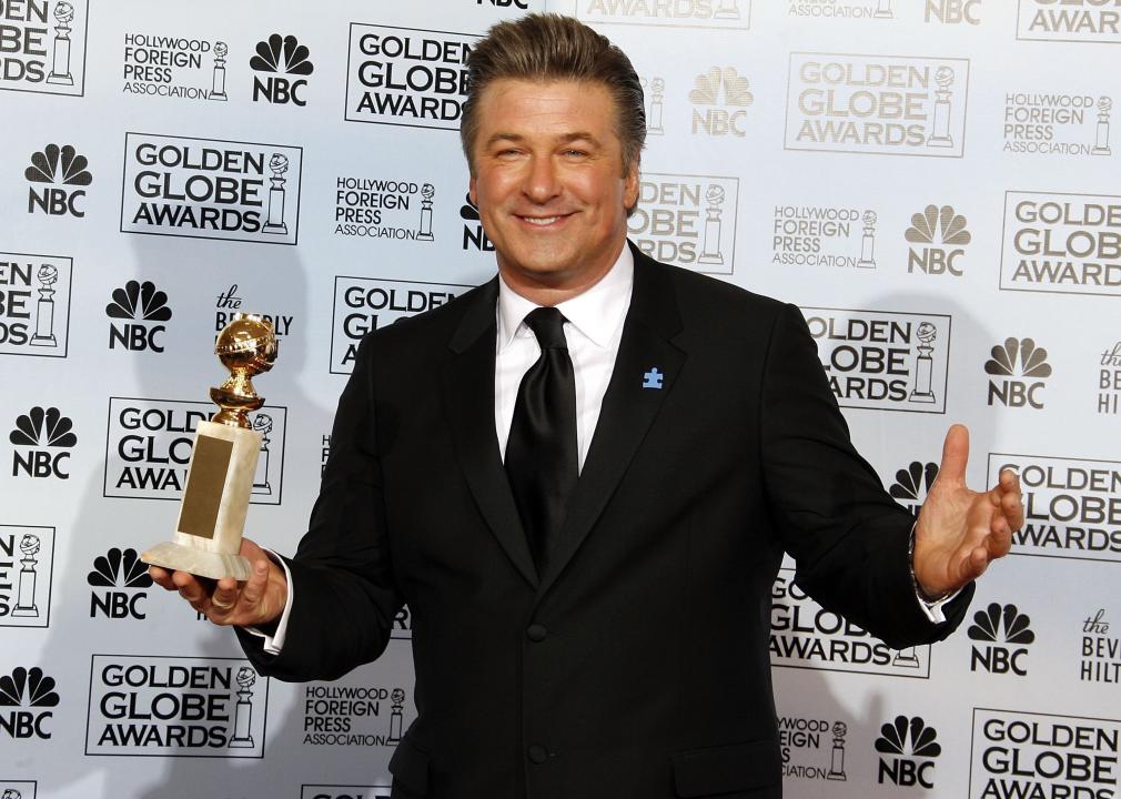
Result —
[[[685, 362], [685, 353], [670, 341], [680, 331], [682, 322], [666, 268], [636, 248], [631, 250], [634, 286], [619, 355], [557, 548], [541, 575], [538, 597], [544, 596], [587, 538]], [[663, 375], [660, 381], [647, 380], [654, 369]], [[655, 388], [659, 382], [660, 388]]]

